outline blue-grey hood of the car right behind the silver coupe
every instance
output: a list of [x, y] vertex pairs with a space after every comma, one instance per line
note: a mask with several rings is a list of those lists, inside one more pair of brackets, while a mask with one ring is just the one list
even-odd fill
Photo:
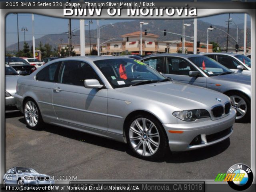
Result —
[[216, 80], [224, 80], [224, 81], [230, 81], [230, 82], [238, 82], [243, 84], [251, 84], [251, 76], [247, 74], [241, 74], [241, 73], [232, 73], [232, 74], [226, 74], [226, 75], [219, 75], [219, 76], [212, 76], [212, 79]]

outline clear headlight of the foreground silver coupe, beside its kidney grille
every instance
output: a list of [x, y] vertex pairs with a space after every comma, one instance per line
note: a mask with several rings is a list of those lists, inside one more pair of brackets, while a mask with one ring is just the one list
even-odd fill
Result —
[[208, 118], [210, 114], [205, 109], [194, 109], [194, 110], [184, 110], [175, 111], [172, 113], [176, 118], [183, 121], [195, 121], [197, 119]]

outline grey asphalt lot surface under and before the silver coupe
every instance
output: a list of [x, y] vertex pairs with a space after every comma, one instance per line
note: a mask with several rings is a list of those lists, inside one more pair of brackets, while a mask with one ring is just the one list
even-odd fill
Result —
[[126, 144], [52, 125], [30, 130], [21, 113], [6, 114], [6, 169], [25, 166], [78, 179], [205, 180], [236, 163], [250, 166], [250, 123], [235, 123], [232, 136], [214, 146], [150, 162], [132, 156]]

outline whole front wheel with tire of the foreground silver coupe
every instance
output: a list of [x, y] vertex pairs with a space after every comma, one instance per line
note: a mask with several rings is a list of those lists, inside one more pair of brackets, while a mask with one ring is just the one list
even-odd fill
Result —
[[131, 118], [125, 134], [132, 152], [139, 158], [159, 160], [164, 156], [167, 136], [162, 124], [154, 116], [137, 115]]

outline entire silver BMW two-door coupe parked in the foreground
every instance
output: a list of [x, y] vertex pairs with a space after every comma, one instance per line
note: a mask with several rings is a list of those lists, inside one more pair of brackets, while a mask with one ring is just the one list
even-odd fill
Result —
[[228, 138], [236, 112], [228, 96], [173, 82], [127, 57], [56, 59], [18, 79], [17, 107], [29, 128], [55, 124], [127, 142], [161, 158]]

